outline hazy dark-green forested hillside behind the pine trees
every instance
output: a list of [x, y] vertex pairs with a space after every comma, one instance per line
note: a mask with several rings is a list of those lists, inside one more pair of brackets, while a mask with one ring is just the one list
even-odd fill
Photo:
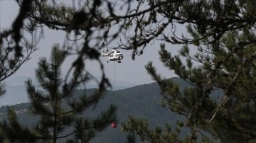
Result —
[[[174, 81], [180, 83], [182, 87], [188, 84], [181, 79], [173, 78]], [[94, 89], [78, 90], [75, 94], [82, 92], [93, 92]], [[171, 113], [168, 108], [163, 108], [160, 105], [161, 95], [159, 93], [159, 85], [156, 83], [144, 84], [126, 88], [118, 91], [107, 91], [105, 97], [97, 104], [97, 110], [94, 108], [87, 110], [86, 115], [93, 116], [100, 113], [110, 104], [117, 105], [117, 128], [108, 127], [107, 130], [98, 134], [92, 142], [125, 142], [126, 134], [122, 132], [121, 122], [127, 120], [129, 115], [136, 118], [145, 118], [149, 120], [151, 126], [164, 125], [166, 122], [174, 123], [179, 118], [177, 115]], [[28, 113], [29, 103], [21, 103], [14, 105], [18, 119], [24, 125], [31, 125], [36, 122], [36, 117]], [[6, 106], [0, 108], [1, 117], [6, 118]]]

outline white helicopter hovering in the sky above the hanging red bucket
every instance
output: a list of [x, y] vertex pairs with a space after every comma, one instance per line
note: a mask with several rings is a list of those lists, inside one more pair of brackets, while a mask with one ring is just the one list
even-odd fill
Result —
[[102, 57], [108, 57], [107, 63], [109, 61], [117, 61], [118, 63], [121, 63], [121, 60], [124, 58], [122, 53], [116, 49], [112, 50], [112, 52], [110, 52], [110, 53], [102, 51]]

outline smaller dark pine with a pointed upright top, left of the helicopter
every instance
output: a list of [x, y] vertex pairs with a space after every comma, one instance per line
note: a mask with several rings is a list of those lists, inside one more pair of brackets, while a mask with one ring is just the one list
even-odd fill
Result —
[[9, 142], [89, 142], [97, 132], [104, 130], [115, 119], [116, 108], [111, 105], [96, 118], [82, 115], [104, 96], [104, 88], [95, 90], [92, 95], [84, 92], [75, 93], [78, 86], [90, 80], [90, 74], [84, 68], [76, 68], [69, 82], [61, 74], [64, 52], [58, 45], [53, 46], [50, 62], [41, 58], [36, 69], [36, 79], [40, 88], [26, 81], [26, 88], [31, 101], [31, 113], [39, 120], [32, 127], [19, 125], [14, 110], [9, 109], [9, 122], [4, 128]]

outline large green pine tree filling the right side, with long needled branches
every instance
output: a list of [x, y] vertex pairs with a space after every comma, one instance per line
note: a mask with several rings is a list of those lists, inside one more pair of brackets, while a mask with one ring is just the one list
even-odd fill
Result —
[[[158, 74], [152, 62], [145, 66], [161, 88], [162, 105], [186, 119], [152, 130], [145, 120], [129, 118], [125, 131], [149, 142], [255, 142], [255, 21], [246, 26], [238, 21], [248, 20], [255, 1], [223, 3], [201, 1], [201, 7], [195, 7], [201, 11], [187, 10], [197, 12], [196, 26], [187, 26], [193, 46], [183, 45], [178, 55], [171, 55], [165, 44], [160, 45], [161, 62], [192, 87], [181, 90], [181, 85]], [[223, 29], [214, 25], [217, 21], [210, 23], [213, 11], [227, 18]], [[186, 129], [189, 134], [181, 138]]]

